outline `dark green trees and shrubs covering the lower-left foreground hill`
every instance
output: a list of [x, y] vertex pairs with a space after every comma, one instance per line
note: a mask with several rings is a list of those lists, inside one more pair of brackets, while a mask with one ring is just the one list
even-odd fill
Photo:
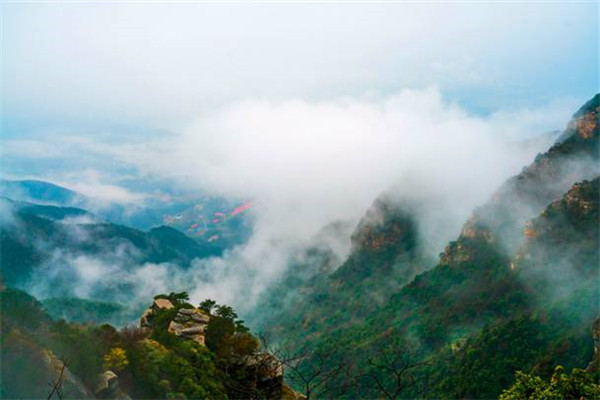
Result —
[[[45, 366], [49, 353], [56, 354], [57, 366], [58, 360], [65, 361], [68, 371], [92, 390], [100, 373], [116, 372], [121, 389], [134, 398], [263, 398], [273, 391], [281, 392], [281, 377], [265, 372], [260, 357], [251, 362], [261, 354], [259, 341], [233, 308], [213, 302], [205, 347], [167, 330], [179, 308], [193, 307], [187, 293], [157, 298], [169, 299], [175, 308], [159, 310], [148, 333], [133, 327], [118, 331], [110, 325], [54, 321], [32, 296], [15, 289], [0, 291], [0, 394], [9, 398], [46, 397], [47, 382], [60, 382], [53, 395], [79, 393], [74, 397], [85, 397], [65, 380], [64, 368]], [[39, 383], [41, 389], [32, 392], [32, 382]]]

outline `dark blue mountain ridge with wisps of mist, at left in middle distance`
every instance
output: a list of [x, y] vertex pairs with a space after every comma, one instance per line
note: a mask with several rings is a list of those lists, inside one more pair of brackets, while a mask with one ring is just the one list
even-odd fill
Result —
[[[36, 284], [54, 279], [57, 294], [72, 295], [69, 270], [57, 272], [77, 261], [92, 260], [126, 269], [144, 263], [187, 268], [196, 258], [221, 254], [221, 250], [169, 227], [142, 232], [98, 221], [80, 209], [6, 200], [3, 204], [3, 212], [9, 217], [3, 218], [0, 231], [1, 272], [9, 286], [25, 287], [34, 279]], [[41, 271], [44, 273], [40, 276]], [[115, 271], [113, 268], [103, 273]]]

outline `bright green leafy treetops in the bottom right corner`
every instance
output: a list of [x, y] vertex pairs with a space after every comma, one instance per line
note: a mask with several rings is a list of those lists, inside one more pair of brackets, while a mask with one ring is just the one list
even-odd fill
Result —
[[566, 374], [558, 366], [549, 381], [517, 372], [515, 383], [502, 392], [500, 400], [598, 399], [600, 385], [585, 370], [575, 368]]

